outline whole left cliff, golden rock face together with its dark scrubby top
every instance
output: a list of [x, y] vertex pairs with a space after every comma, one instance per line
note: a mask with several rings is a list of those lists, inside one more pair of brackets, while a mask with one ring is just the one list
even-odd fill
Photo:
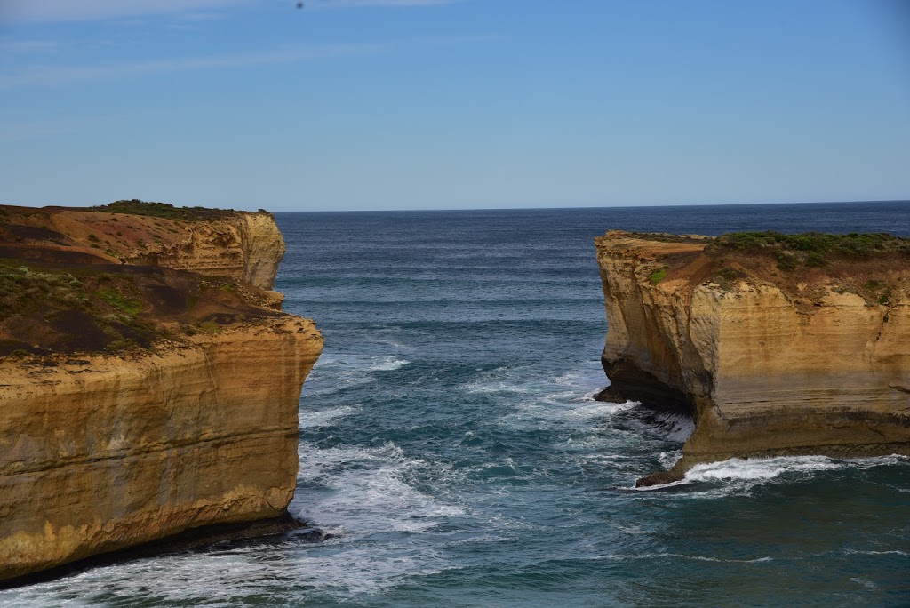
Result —
[[0, 208], [0, 581], [286, 513], [323, 339], [262, 289], [284, 251], [267, 213], [189, 211], [174, 229], [207, 242], [205, 275], [187, 269], [196, 245], [98, 250], [173, 219]]

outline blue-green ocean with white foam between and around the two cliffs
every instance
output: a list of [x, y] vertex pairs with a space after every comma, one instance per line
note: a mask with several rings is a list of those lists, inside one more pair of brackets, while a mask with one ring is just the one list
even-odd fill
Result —
[[908, 606], [910, 459], [727, 461], [634, 491], [690, 421], [591, 400], [611, 228], [910, 236], [910, 203], [282, 213], [326, 348], [291, 512], [328, 532], [0, 593], [0, 606]]

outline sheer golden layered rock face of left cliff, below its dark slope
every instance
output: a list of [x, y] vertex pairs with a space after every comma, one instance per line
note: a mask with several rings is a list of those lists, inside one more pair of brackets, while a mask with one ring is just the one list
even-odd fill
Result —
[[312, 321], [156, 352], [0, 362], [0, 580], [285, 511]]

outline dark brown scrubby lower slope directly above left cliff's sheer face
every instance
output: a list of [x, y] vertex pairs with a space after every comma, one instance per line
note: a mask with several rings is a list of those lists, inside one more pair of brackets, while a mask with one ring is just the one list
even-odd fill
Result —
[[283, 316], [261, 289], [193, 272], [0, 258], [0, 357], [120, 352]]

